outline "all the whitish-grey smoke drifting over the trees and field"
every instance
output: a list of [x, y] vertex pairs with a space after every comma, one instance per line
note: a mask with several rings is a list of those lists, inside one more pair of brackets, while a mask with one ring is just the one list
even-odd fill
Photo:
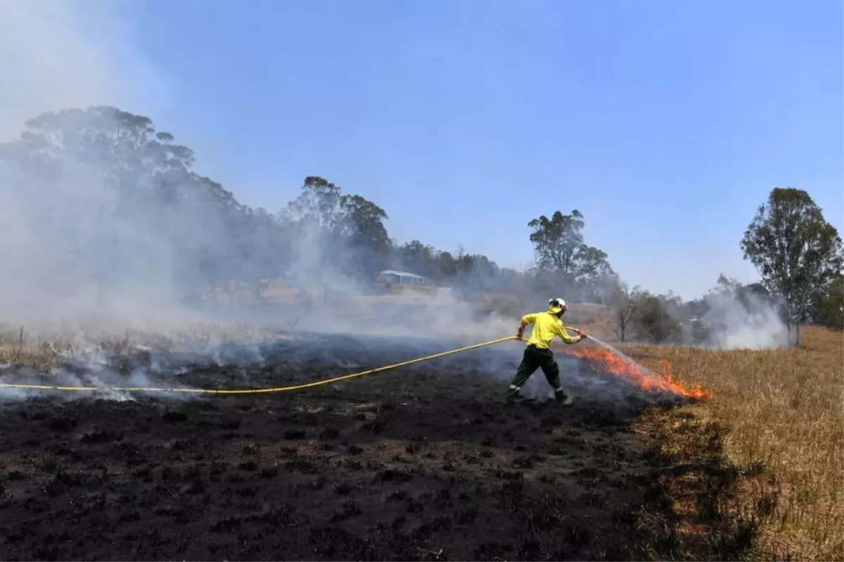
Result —
[[[509, 318], [496, 312], [500, 303], [479, 315], [473, 299], [461, 296], [493, 289], [497, 266], [485, 258], [463, 270], [459, 291], [378, 294], [373, 275], [401, 263], [379, 261], [389, 240], [376, 205], [351, 197], [354, 221], [342, 222], [334, 210], [343, 196], [328, 190], [315, 206], [281, 219], [202, 176], [202, 162], [159, 128], [165, 123], [136, 114], [154, 112], [165, 88], [106, 3], [2, 0], [0, 7], [0, 335], [25, 326], [29, 338], [61, 338], [82, 349], [51, 372], [55, 384], [146, 386], [187, 369], [159, 349], [178, 343], [215, 365], [262, 368], [271, 345], [232, 346], [221, 335], [242, 339], [253, 327], [262, 328], [257, 339], [289, 332], [371, 337], [342, 353], [330, 341], [316, 348], [349, 368], [360, 364], [349, 350], [364, 345], [388, 350], [385, 361], [403, 360], [515, 332], [512, 316], [525, 312], [519, 306]], [[518, 274], [508, 275], [517, 286]], [[283, 279], [288, 295], [254, 298], [264, 279]], [[556, 296], [544, 292], [529, 295], [534, 310]], [[733, 312], [728, 300], [711, 307], [711, 320], [732, 330], [718, 336], [727, 337], [722, 344], [765, 341]], [[144, 344], [158, 349], [157, 359], [117, 368], [101, 350], [86, 351], [129, 332], [133, 353]], [[166, 345], [150, 347], [162, 336], [170, 338]], [[506, 381], [521, 349], [474, 354], [472, 368]], [[464, 365], [451, 361], [443, 365]], [[598, 392], [605, 384], [569, 366], [583, 388]], [[247, 386], [248, 370], [238, 372]], [[0, 376], [34, 374], [6, 369]]]

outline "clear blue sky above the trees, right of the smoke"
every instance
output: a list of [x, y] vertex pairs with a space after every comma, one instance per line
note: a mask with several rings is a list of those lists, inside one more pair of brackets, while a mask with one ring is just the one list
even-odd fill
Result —
[[146, 0], [154, 117], [197, 171], [276, 211], [305, 176], [387, 210], [404, 242], [533, 258], [580, 209], [630, 283], [745, 281], [774, 186], [844, 228], [844, 8], [814, 2]]

